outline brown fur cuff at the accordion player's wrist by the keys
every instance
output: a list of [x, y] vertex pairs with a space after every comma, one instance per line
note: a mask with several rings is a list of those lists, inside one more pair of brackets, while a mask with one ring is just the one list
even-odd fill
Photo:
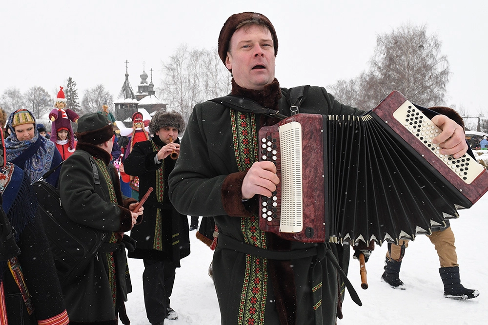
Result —
[[252, 213], [246, 210], [242, 199], [241, 187], [246, 172], [233, 172], [224, 179], [222, 184], [222, 205], [231, 217], [250, 217]]

